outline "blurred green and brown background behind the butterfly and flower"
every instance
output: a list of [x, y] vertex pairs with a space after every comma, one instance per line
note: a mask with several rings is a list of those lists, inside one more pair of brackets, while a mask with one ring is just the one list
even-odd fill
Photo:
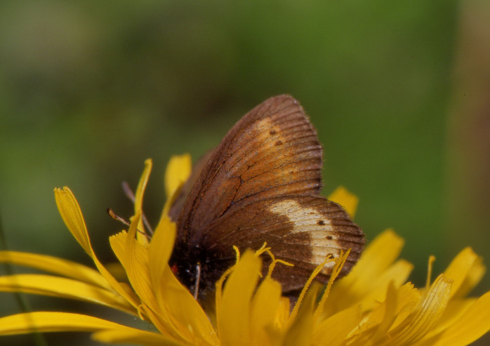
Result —
[[[360, 197], [368, 240], [388, 227], [404, 237], [416, 284], [431, 254], [435, 273], [464, 246], [488, 264], [488, 13], [476, 0], [2, 1], [6, 246], [88, 264], [55, 206], [53, 187], [67, 185], [100, 259], [114, 260], [107, 237], [121, 225], [105, 209], [131, 215], [121, 182], [134, 188], [145, 159], [155, 223], [172, 154], [199, 157], [249, 109], [290, 93], [324, 145], [324, 194], [344, 185]], [[477, 293], [489, 289], [487, 278]], [[0, 298], [1, 315], [17, 311]]]

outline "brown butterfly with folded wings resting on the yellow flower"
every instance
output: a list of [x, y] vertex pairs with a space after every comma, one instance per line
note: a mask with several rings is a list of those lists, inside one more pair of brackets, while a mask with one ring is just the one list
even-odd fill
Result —
[[[257, 250], [267, 242], [291, 262], [272, 274], [286, 294], [302, 288], [327, 255], [351, 248], [346, 274], [364, 234], [341, 206], [319, 197], [320, 189], [322, 145], [303, 107], [289, 95], [265, 100], [194, 167], [170, 212], [178, 224], [171, 265], [188, 287], [200, 285], [200, 296], [236, 261], [233, 246]], [[317, 279], [325, 283], [332, 266]]]

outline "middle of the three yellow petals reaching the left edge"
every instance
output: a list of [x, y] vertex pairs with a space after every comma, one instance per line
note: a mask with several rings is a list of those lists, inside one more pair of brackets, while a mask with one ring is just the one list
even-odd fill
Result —
[[121, 295], [81, 281], [40, 274], [16, 274], [0, 277], [0, 291], [51, 295], [58, 298], [85, 300], [135, 314]]

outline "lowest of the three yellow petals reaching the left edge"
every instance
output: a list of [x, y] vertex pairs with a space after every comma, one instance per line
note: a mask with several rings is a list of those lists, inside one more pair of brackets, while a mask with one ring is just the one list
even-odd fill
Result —
[[0, 335], [53, 331], [131, 330], [105, 319], [67, 312], [29, 312], [0, 318]]

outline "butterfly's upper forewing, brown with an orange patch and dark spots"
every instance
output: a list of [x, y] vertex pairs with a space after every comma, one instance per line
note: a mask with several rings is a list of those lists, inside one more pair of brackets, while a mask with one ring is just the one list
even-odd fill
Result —
[[303, 108], [289, 95], [252, 109], [227, 133], [194, 183], [178, 220], [179, 237], [199, 242], [230, 207], [281, 194], [318, 194], [322, 146]]

